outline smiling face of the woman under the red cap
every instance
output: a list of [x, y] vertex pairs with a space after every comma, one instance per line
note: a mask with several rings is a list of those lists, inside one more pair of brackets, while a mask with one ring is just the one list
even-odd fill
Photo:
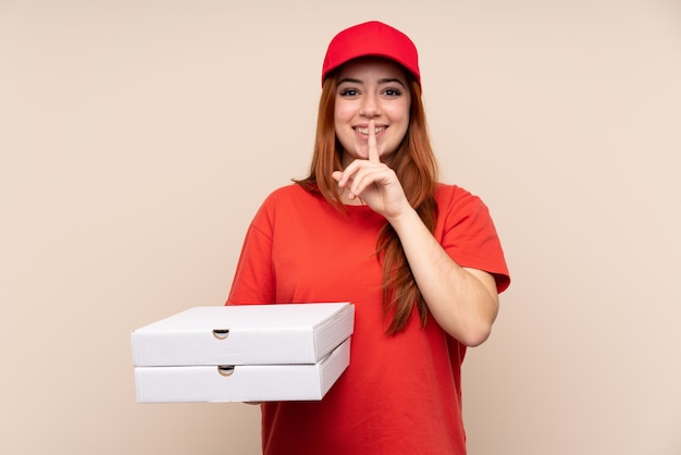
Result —
[[343, 165], [368, 159], [369, 121], [375, 124], [381, 161], [389, 161], [409, 127], [411, 95], [405, 70], [384, 59], [358, 59], [338, 74], [334, 109], [336, 137], [345, 150]]

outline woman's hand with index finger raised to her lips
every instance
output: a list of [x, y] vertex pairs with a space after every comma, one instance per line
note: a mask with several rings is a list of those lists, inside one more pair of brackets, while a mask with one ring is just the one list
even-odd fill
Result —
[[375, 122], [369, 121], [368, 159], [356, 159], [344, 171], [335, 171], [333, 179], [349, 200], [359, 198], [388, 221], [399, 217], [411, 206], [395, 171], [381, 162], [376, 145]]

